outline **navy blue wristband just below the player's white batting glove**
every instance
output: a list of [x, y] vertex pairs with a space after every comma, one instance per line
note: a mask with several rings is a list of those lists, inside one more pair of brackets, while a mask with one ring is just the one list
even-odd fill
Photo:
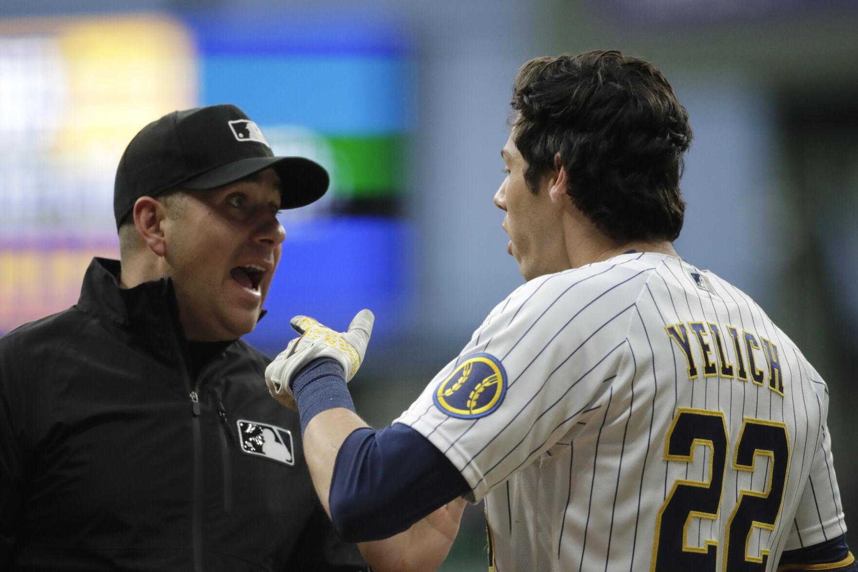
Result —
[[305, 365], [292, 382], [292, 392], [298, 404], [301, 435], [307, 423], [322, 411], [335, 407], [354, 411], [345, 372], [340, 362], [330, 357], [320, 357]]

